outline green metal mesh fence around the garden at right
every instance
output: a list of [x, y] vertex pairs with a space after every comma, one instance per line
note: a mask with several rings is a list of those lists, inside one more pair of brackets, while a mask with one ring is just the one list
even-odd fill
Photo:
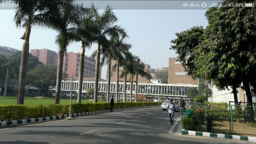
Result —
[[[241, 103], [185, 103], [184, 109], [193, 110], [195, 131], [256, 136], [256, 105]], [[184, 111], [184, 110], [183, 110]], [[182, 113], [182, 120], [186, 113]], [[188, 115], [187, 115], [188, 116]]]

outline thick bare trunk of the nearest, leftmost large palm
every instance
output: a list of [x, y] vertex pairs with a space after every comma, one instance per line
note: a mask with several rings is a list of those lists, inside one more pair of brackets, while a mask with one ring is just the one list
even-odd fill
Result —
[[25, 84], [27, 77], [27, 60], [29, 58], [29, 37], [31, 33], [31, 25], [26, 26], [26, 30], [21, 39], [24, 40], [21, 54], [21, 68], [19, 70], [19, 90], [17, 104], [24, 104]]

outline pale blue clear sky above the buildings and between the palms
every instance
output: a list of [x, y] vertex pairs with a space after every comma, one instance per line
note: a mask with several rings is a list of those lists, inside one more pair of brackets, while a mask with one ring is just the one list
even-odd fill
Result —
[[[170, 50], [170, 41], [175, 33], [189, 29], [195, 25], [206, 27], [206, 10], [113, 10], [118, 17], [117, 24], [126, 29], [133, 47], [131, 52], [149, 64], [151, 68], [168, 67], [168, 58], [177, 57]], [[24, 29], [17, 29], [13, 22], [15, 10], [0, 10], [0, 45], [22, 50], [21, 36]], [[50, 49], [58, 51], [55, 44], [56, 31], [34, 27], [30, 35], [30, 49]], [[90, 56], [96, 50], [93, 45], [86, 50]], [[67, 51], [78, 52], [81, 44], [71, 43]], [[102, 79], [106, 79], [106, 66], [102, 67]]]

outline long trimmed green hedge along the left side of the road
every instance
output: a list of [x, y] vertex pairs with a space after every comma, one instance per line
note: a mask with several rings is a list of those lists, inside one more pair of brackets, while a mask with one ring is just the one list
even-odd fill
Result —
[[[158, 105], [157, 102], [145, 103], [145, 106]], [[143, 106], [137, 103], [114, 103], [114, 109]], [[11, 114], [10, 114], [11, 108]], [[77, 103], [71, 104], [71, 113], [109, 110], [109, 103]], [[10, 114], [10, 115], [9, 115]], [[69, 104], [51, 105], [0, 105], [0, 121], [18, 120], [27, 118], [50, 117], [54, 115], [69, 114]]]

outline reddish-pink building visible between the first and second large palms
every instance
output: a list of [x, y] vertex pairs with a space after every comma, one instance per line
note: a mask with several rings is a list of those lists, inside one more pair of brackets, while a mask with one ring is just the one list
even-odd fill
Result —
[[30, 54], [38, 57], [39, 62], [42, 62], [45, 65], [57, 65], [58, 54], [55, 51], [49, 49], [31, 49]]

